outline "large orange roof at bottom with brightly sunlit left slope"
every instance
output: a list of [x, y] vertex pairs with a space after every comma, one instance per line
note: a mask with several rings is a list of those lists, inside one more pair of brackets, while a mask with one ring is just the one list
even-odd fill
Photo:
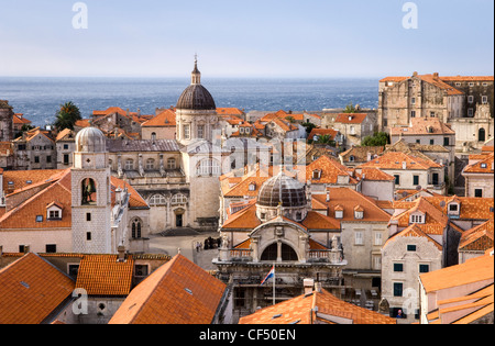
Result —
[[134, 288], [109, 324], [210, 324], [226, 288], [179, 254]]

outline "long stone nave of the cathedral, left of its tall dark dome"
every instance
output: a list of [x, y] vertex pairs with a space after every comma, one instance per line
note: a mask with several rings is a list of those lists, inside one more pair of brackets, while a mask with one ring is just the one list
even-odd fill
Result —
[[175, 139], [107, 141], [111, 175], [132, 186], [150, 205], [150, 232], [193, 227], [190, 185]]

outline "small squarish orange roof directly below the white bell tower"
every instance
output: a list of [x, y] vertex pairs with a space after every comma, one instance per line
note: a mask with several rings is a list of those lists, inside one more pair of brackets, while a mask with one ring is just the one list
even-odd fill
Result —
[[128, 295], [131, 292], [134, 259], [123, 263], [118, 255], [86, 255], [79, 265], [76, 288], [89, 295]]

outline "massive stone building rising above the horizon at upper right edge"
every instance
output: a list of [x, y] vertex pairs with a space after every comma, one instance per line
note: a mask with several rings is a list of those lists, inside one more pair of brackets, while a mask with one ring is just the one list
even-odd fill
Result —
[[378, 126], [407, 126], [414, 118], [438, 118], [455, 132], [455, 149], [481, 148], [493, 136], [493, 76], [387, 77], [380, 81]]

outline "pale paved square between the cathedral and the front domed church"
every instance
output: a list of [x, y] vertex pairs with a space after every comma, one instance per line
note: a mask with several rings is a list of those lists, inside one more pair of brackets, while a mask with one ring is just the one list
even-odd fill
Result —
[[185, 235], [176, 235], [168, 233], [168, 235], [151, 235], [150, 236], [150, 254], [165, 254], [174, 257], [180, 254], [201, 267], [205, 270], [216, 270], [217, 267], [211, 264], [211, 260], [218, 256], [218, 248], [201, 249], [197, 252], [196, 244], [199, 242], [205, 244], [208, 237], [218, 238], [218, 232], [199, 233], [186, 232]]

